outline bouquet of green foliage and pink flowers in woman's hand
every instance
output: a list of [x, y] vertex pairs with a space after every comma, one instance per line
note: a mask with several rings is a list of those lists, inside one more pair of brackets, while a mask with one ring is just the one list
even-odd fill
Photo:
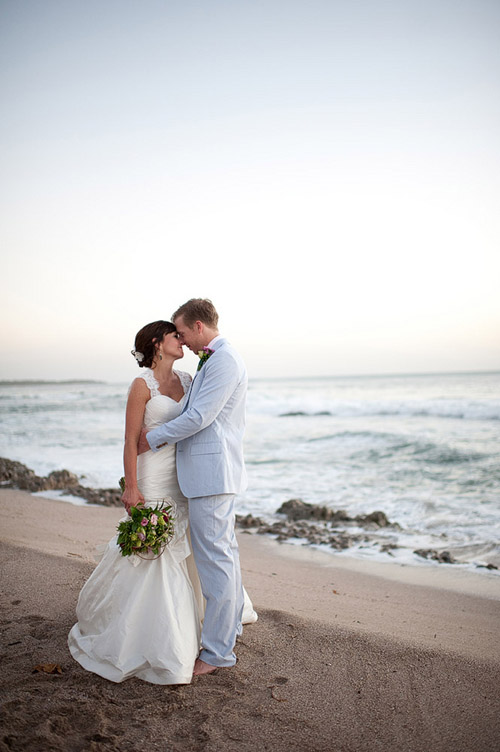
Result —
[[[120, 482], [120, 486], [121, 486]], [[122, 556], [161, 556], [174, 535], [174, 518], [169, 504], [155, 507], [130, 507], [130, 519], [118, 525], [118, 545]]]

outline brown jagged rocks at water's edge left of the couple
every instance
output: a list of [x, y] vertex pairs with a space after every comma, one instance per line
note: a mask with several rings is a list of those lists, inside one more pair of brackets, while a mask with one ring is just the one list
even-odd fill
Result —
[[81, 486], [78, 477], [69, 470], [53, 470], [47, 476], [36, 475], [22, 462], [0, 457], [0, 485], [3, 488], [19, 488], [22, 491], [64, 491], [71, 496], [86, 499], [91, 504], [120, 506], [121, 491], [114, 488], [87, 488]]

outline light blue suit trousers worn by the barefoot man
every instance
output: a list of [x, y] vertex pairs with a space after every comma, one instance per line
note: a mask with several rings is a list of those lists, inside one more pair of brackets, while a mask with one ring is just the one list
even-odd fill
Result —
[[234, 666], [241, 634], [243, 586], [234, 532], [234, 495], [189, 499], [193, 554], [206, 600], [200, 658], [212, 666]]

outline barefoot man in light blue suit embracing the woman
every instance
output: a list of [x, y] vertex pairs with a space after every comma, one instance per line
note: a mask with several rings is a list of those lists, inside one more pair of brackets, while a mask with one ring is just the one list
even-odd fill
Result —
[[234, 497], [246, 487], [243, 432], [247, 373], [218, 331], [210, 300], [194, 298], [172, 316], [180, 341], [200, 354], [183, 412], [146, 434], [139, 451], [177, 444], [177, 476], [189, 499], [193, 553], [206, 599], [202, 649], [194, 675], [236, 663], [243, 587], [234, 532]]

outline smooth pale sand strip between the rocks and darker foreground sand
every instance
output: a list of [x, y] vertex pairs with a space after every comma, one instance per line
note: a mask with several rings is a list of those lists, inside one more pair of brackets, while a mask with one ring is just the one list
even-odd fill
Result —
[[[22, 527], [9, 515], [14, 505]], [[0, 489], [0, 541], [66, 561], [95, 566], [96, 546], [113, 537], [123, 516], [119, 507], [76, 506]], [[497, 575], [451, 566], [377, 565], [243, 530], [237, 537], [244, 584], [256, 606], [431, 649], [482, 659], [496, 655], [500, 662]]]

